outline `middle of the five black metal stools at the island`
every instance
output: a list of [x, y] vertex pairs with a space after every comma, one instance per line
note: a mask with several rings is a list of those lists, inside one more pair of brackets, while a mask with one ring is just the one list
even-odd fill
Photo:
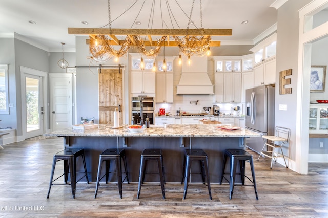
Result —
[[[144, 180], [145, 180], [146, 165], [147, 165], [147, 161], [149, 161], [149, 160], [157, 161], [158, 173], [159, 173], [159, 179], [160, 179], [160, 186], [161, 186], [161, 189], [162, 189], [163, 199], [165, 199], [164, 164], [163, 164], [163, 156], [162, 156], [162, 150], [161, 149], [144, 149], [144, 151], [142, 151], [137, 199], [139, 199], [139, 196], [140, 196], [141, 184], [143, 184]], [[149, 172], [148, 172], [148, 174], [149, 174]]]

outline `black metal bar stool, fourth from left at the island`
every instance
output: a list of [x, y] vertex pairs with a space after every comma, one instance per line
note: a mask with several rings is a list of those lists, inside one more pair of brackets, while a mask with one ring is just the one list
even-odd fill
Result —
[[205, 151], [202, 149], [187, 149], [185, 150], [185, 158], [183, 160], [183, 170], [182, 181], [185, 180], [185, 192], [183, 193], [183, 199], [186, 199], [187, 189], [189, 184], [189, 177], [192, 172], [190, 172], [192, 161], [199, 161], [201, 168], [201, 177], [203, 184], [205, 184], [205, 177], [207, 178], [207, 186], [209, 188], [210, 199], [212, 200], [211, 194], [211, 183], [210, 183], [210, 174], [209, 174], [209, 164], [208, 158]]

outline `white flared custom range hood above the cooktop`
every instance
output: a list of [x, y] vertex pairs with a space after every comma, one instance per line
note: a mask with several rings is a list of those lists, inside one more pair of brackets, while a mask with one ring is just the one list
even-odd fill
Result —
[[207, 74], [207, 56], [191, 56], [191, 64], [187, 57], [182, 58], [181, 78], [176, 86], [177, 95], [212, 95], [214, 85]]

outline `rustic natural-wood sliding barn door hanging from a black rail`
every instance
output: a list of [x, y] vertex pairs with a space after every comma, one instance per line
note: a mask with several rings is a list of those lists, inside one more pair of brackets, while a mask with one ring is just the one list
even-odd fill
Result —
[[99, 69], [99, 123], [114, 125], [114, 111], [119, 110], [122, 125], [122, 73], [118, 69]]

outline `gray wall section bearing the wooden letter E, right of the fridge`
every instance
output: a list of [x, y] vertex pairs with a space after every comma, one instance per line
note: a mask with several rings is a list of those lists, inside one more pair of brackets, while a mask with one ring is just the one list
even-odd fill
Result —
[[[284, 154], [295, 161], [296, 149], [296, 94], [298, 77], [298, 35], [299, 18], [298, 10], [311, 2], [311, 0], [289, 0], [278, 9], [277, 23], [277, 61], [276, 81], [279, 81], [279, 72], [292, 69], [291, 78], [292, 94], [279, 95], [276, 89], [275, 125], [284, 126], [292, 130], [289, 147], [284, 149]], [[279, 82], [276, 82], [279, 87]], [[288, 110], [280, 111], [279, 104], [286, 104]]]

